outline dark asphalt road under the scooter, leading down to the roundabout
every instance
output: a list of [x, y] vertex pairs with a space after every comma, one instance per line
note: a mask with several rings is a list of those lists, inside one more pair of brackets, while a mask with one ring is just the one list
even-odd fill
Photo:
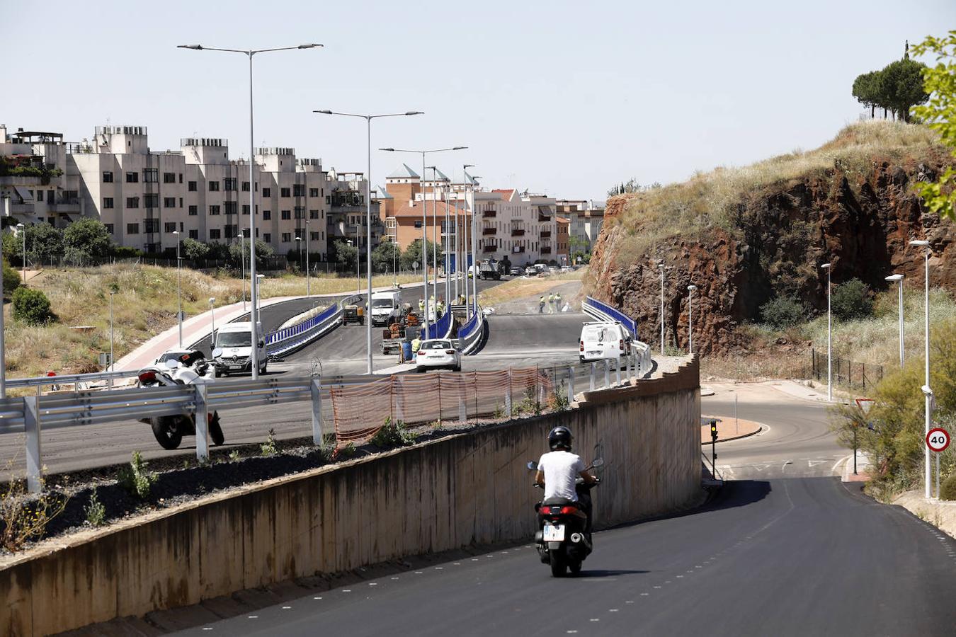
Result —
[[[303, 591], [185, 634], [953, 634], [956, 541], [819, 477], [832, 463], [800, 461], [845, 456], [824, 408], [735, 391], [740, 416], [770, 426], [718, 445], [738, 479], [701, 508], [597, 534], [579, 578], [553, 579], [525, 544]], [[704, 399], [706, 412], [732, 405], [726, 391]]]

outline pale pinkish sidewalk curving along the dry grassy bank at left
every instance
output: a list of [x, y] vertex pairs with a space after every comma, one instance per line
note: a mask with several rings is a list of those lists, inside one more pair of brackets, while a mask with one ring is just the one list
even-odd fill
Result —
[[[439, 279], [439, 282], [444, 281], [444, 279]], [[413, 284], [403, 284], [402, 289], [413, 289], [415, 287], [422, 287], [421, 283]], [[391, 289], [391, 286], [384, 287], [373, 287], [372, 292], [378, 292], [381, 290]], [[367, 288], [362, 289], [353, 289], [353, 290], [344, 290], [341, 292], [330, 292], [326, 294], [313, 294], [310, 297], [305, 296], [277, 296], [271, 299], [262, 299], [259, 302], [260, 311], [264, 308], [269, 308], [280, 303], [285, 303], [287, 301], [296, 301], [299, 299], [311, 298], [311, 299], [335, 299], [342, 296], [349, 296], [352, 294], [363, 294], [367, 291]], [[183, 346], [189, 347], [197, 341], [201, 341], [204, 338], [208, 337], [212, 333], [212, 313], [215, 313], [216, 325], [225, 325], [230, 321], [234, 321], [243, 314], [249, 311], [250, 303], [246, 303], [246, 309], [243, 309], [242, 302], [233, 303], [228, 306], [220, 306], [219, 308], [214, 308], [211, 312], [205, 311], [202, 314], [197, 314], [196, 316], [191, 316], [183, 322]], [[172, 348], [179, 347], [179, 325], [174, 325], [173, 327], [166, 329], [160, 334], [157, 334], [153, 338], [149, 339], [145, 343], [141, 344], [135, 350], [130, 351], [125, 356], [117, 359], [116, 369], [119, 370], [138, 370], [141, 367], [146, 365], [152, 365], [153, 361], [163, 353], [165, 350], [170, 350]]]

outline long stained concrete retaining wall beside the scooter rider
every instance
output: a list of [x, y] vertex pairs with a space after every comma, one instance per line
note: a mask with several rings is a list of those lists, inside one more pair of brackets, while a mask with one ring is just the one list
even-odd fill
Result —
[[528, 538], [525, 467], [557, 424], [604, 457], [597, 524], [699, 494], [696, 359], [576, 409], [323, 467], [74, 537], [0, 570], [0, 634], [41, 635], [390, 559]]

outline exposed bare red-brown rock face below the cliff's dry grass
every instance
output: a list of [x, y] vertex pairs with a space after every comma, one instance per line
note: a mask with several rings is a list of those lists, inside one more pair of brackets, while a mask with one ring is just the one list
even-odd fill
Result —
[[[776, 295], [793, 296], [808, 318], [826, 309], [826, 271], [834, 284], [858, 278], [875, 290], [902, 273], [923, 286], [923, 253], [912, 239], [930, 242], [931, 286], [956, 291], [956, 226], [924, 213], [914, 194], [917, 180], [933, 180], [949, 163], [945, 154], [923, 163], [874, 159], [866, 175], [839, 169], [766, 187], [742, 202], [735, 231], [714, 228], [706, 242], [671, 237], [659, 245], [670, 266], [664, 279], [666, 341], [687, 345], [687, 286], [694, 284], [694, 350], [739, 350], [743, 321], [760, 320], [759, 308]], [[629, 196], [608, 202], [606, 218], [622, 214]], [[605, 223], [591, 260], [591, 290], [633, 316], [642, 341], [660, 342], [661, 274], [651, 255], [617, 263], [622, 231]]]

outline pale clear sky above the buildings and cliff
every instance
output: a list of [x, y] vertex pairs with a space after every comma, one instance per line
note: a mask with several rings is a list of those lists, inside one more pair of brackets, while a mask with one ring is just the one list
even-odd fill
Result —
[[956, 28], [953, 0], [768, 2], [83, 2], [0, 0], [0, 123], [91, 138], [141, 125], [154, 151], [227, 138], [249, 155], [291, 146], [323, 168], [365, 172], [361, 119], [378, 114], [372, 181], [431, 149], [492, 188], [603, 200], [614, 184], [668, 183], [716, 166], [811, 149], [863, 112], [853, 79], [903, 43]]

